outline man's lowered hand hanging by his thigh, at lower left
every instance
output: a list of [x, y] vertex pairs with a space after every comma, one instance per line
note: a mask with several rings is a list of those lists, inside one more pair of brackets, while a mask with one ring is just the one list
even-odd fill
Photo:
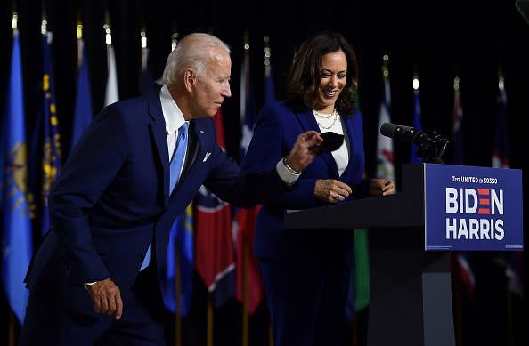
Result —
[[86, 286], [86, 290], [94, 301], [95, 312], [107, 315], [115, 315], [116, 319], [121, 318], [123, 313], [123, 302], [119, 287], [110, 278], [96, 282], [94, 285]]

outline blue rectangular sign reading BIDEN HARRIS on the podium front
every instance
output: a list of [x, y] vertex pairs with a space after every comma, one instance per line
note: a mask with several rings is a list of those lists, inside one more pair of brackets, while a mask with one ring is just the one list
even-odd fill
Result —
[[425, 249], [522, 251], [522, 171], [424, 164]]

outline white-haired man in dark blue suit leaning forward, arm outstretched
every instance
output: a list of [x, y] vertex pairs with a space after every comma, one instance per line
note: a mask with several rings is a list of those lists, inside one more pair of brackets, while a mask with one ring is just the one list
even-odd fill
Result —
[[316, 131], [253, 173], [240, 173], [216, 144], [209, 117], [231, 96], [230, 70], [226, 44], [191, 34], [167, 58], [156, 93], [94, 118], [49, 199], [20, 345], [164, 345], [160, 264], [175, 217], [200, 186], [242, 207], [297, 189], [322, 141]]

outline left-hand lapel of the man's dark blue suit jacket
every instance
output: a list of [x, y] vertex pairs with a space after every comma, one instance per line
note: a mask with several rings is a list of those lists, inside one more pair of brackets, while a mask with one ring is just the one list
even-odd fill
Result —
[[169, 153], [167, 149], [166, 121], [159, 101], [159, 90], [157, 93], [149, 94], [149, 115], [152, 118], [150, 124], [151, 135], [156, 143], [156, 149], [160, 164], [163, 167], [163, 178], [161, 189], [164, 191], [164, 209], [169, 206]]

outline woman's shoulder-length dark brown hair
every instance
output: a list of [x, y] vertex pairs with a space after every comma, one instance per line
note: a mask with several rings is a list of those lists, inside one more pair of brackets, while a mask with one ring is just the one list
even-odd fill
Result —
[[321, 58], [330, 52], [344, 52], [347, 60], [346, 85], [338, 96], [337, 109], [343, 117], [354, 114], [354, 91], [358, 78], [358, 63], [351, 44], [338, 33], [324, 31], [308, 37], [299, 47], [289, 70], [287, 98], [294, 110], [312, 107], [318, 97], [321, 81]]

